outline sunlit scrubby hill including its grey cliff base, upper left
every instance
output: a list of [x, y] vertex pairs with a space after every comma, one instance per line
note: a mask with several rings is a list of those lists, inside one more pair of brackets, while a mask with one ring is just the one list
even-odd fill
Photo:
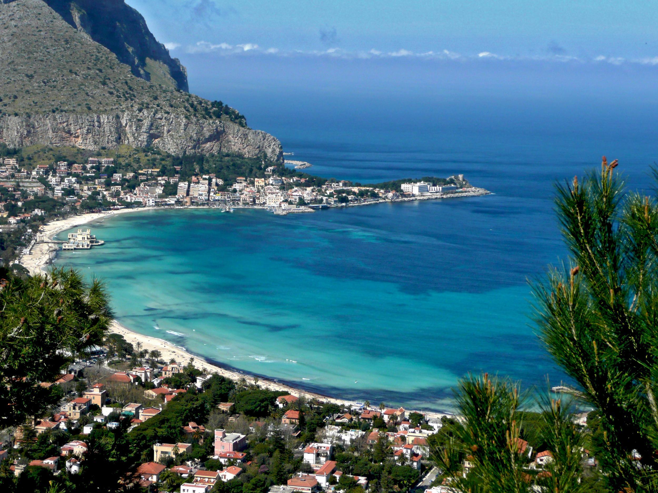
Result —
[[[107, 0], [99, 0], [105, 3]], [[0, 142], [283, 158], [239, 112], [132, 74], [43, 0], [0, 3]], [[120, 3], [120, 2], [116, 2]]]

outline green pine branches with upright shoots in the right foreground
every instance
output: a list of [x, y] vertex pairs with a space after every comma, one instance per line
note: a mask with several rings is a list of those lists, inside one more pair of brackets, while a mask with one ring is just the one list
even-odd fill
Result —
[[[557, 187], [570, 256], [534, 286], [538, 333], [572, 379], [563, 391], [572, 402], [547, 396], [530, 415], [520, 411], [517, 384], [487, 375], [462, 381], [464, 420], [430, 444], [463, 491], [658, 490], [658, 203], [626, 193], [617, 164], [604, 157], [600, 172]], [[594, 433], [574, 424], [578, 406], [595, 409]], [[544, 473], [527, 473], [523, 436], [551, 452]], [[601, 475], [583, 471], [585, 438]]]

